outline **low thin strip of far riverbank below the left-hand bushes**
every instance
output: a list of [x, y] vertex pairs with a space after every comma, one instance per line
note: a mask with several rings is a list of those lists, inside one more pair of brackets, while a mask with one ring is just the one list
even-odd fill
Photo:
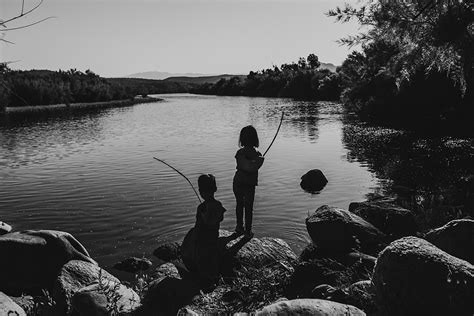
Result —
[[103, 109], [132, 106], [139, 103], [152, 103], [163, 101], [160, 98], [154, 97], [137, 97], [126, 100], [112, 100], [104, 102], [90, 102], [90, 103], [71, 103], [71, 104], [51, 104], [51, 105], [35, 105], [35, 106], [21, 106], [21, 107], [6, 107], [4, 113], [35, 113], [35, 112], [56, 112], [72, 109]]

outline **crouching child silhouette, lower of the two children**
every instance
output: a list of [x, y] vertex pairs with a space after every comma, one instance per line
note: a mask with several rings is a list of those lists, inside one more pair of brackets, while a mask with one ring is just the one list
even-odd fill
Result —
[[184, 238], [181, 254], [186, 268], [197, 274], [200, 286], [209, 288], [219, 277], [219, 227], [226, 209], [214, 198], [217, 186], [213, 175], [201, 175], [198, 186], [204, 202], [197, 208], [196, 224]]

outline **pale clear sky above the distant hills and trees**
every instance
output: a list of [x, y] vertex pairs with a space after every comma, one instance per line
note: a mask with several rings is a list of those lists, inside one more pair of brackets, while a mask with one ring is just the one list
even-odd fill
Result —
[[[39, 0], [25, 0], [31, 8]], [[44, 0], [4, 33], [0, 60], [13, 69], [91, 69], [104, 77], [145, 71], [247, 74], [314, 53], [340, 65], [358, 32], [325, 12], [357, 0]], [[0, 0], [0, 19], [21, 12]]]

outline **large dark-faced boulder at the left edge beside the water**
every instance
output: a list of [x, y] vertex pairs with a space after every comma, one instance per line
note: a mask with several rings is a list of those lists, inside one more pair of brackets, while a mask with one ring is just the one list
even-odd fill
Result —
[[27, 230], [0, 236], [0, 289], [23, 292], [51, 288], [61, 267], [70, 260], [96, 264], [71, 234]]

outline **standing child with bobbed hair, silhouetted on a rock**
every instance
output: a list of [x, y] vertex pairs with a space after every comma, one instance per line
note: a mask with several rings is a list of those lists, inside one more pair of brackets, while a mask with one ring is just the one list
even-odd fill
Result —
[[257, 130], [252, 125], [242, 128], [239, 136], [240, 149], [235, 154], [237, 171], [234, 175], [233, 190], [237, 202], [235, 208], [237, 226], [235, 231], [239, 234], [245, 233], [247, 238], [253, 237], [252, 217], [255, 187], [258, 185], [258, 169], [264, 161], [262, 154], [256, 149], [258, 146]]

